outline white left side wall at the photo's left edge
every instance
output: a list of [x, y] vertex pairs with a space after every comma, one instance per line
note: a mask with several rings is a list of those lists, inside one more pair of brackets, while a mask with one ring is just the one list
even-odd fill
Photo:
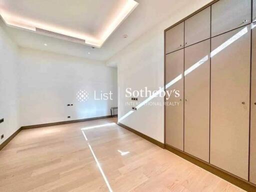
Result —
[[8, 37], [0, 21], [0, 135], [6, 140], [19, 128], [18, 47]]

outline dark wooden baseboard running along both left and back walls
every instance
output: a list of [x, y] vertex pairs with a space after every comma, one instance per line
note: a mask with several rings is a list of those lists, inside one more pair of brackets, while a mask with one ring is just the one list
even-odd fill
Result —
[[21, 126], [18, 130], [16, 130], [11, 136], [9, 136], [5, 141], [3, 141], [0, 144], [0, 150], [6, 146], [9, 141], [16, 136], [20, 130], [23, 129], [29, 129], [29, 128], [38, 128], [38, 127], [44, 127], [44, 126], [53, 126], [53, 125], [59, 125], [59, 124], [67, 124], [67, 123], [73, 123], [73, 122], [82, 122], [82, 121], [88, 121], [88, 120], [96, 120], [96, 119], [102, 119], [102, 118], [110, 118], [111, 115], [107, 116], [98, 116], [98, 117], [92, 117], [92, 118], [83, 118], [83, 119], [77, 119], [77, 120], [67, 120], [67, 121], [60, 121], [60, 122], [51, 122], [51, 123], [44, 123], [44, 124], [35, 124], [35, 125], [28, 125], [28, 126]]

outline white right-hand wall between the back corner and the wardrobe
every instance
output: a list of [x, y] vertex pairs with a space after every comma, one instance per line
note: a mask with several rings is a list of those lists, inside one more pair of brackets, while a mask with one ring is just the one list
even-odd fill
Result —
[[[133, 90], [145, 86], [151, 90], [157, 90], [159, 86], [163, 87], [164, 29], [210, 1], [193, 0], [193, 3], [189, 3], [188, 6], [176, 10], [175, 13], [172, 12], [171, 17], [148, 30], [107, 61], [107, 64], [117, 63], [118, 67], [118, 119], [131, 110], [131, 106], [125, 106], [125, 101], [130, 101], [130, 98], [124, 96], [126, 87]], [[143, 100], [144, 98], [138, 98], [138, 101]], [[164, 142], [163, 98], [155, 97], [151, 101], [155, 101], [156, 104], [160, 102], [161, 105], [143, 106], [120, 122]]]

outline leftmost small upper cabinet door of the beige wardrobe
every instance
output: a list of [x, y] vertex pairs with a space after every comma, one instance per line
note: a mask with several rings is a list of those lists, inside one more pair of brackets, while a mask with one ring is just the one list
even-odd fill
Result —
[[184, 22], [170, 28], [165, 33], [166, 53], [184, 47]]

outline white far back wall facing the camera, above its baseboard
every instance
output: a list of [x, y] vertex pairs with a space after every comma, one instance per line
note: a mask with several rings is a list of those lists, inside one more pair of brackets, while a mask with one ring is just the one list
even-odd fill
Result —
[[[105, 116], [117, 106], [116, 68], [30, 48], [20, 48], [20, 58], [21, 126]], [[76, 99], [79, 89], [88, 91], [87, 101]], [[94, 100], [94, 90], [97, 96], [111, 90], [113, 100]]]

